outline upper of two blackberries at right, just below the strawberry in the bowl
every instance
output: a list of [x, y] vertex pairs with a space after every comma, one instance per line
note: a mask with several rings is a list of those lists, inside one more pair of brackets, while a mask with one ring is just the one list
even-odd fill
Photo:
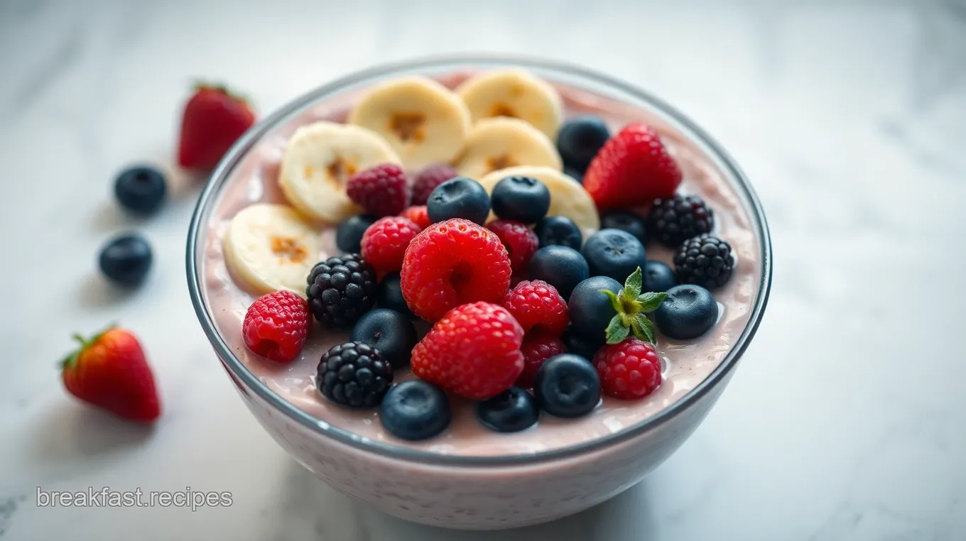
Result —
[[647, 214], [647, 233], [668, 248], [702, 233], [711, 233], [714, 226], [714, 212], [696, 195], [655, 199]]

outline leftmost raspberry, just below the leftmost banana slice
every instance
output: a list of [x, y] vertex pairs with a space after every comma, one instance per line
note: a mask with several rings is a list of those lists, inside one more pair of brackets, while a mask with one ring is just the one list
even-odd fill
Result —
[[249, 350], [271, 360], [289, 362], [301, 353], [308, 336], [308, 303], [290, 291], [276, 291], [252, 302], [241, 323]]

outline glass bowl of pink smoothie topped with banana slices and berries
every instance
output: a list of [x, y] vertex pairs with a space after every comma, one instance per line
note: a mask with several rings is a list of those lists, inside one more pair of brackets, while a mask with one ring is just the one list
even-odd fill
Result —
[[187, 275], [299, 464], [390, 515], [495, 529], [611, 498], [687, 439], [760, 322], [771, 247], [741, 171], [668, 104], [432, 59], [252, 128], [201, 195]]

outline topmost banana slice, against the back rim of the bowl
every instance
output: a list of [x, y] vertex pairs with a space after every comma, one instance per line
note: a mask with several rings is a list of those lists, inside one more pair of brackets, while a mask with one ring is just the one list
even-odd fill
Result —
[[457, 89], [467, 102], [473, 122], [491, 117], [526, 121], [554, 139], [563, 122], [563, 104], [554, 87], [520, 69], [486, 71]]

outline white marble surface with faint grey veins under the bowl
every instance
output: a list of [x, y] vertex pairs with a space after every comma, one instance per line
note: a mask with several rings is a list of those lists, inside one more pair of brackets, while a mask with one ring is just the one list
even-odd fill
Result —
[[[966, 4], [0, 1], [0, 539], [961, 540], [966, 538]], [[351, 6], [351, 7], [350, 7]], [[196, 187], [132, 221], [131, 161], [169, 166], [196, 76], [262, 112], [374, 62], [526, 52], [644, 86], [753, 179], [775, 284], [694, 437], [635, 489], [543, 527], [457, 533], [309, 477], [262, 431], [190, 307]], [[99, 278], [109, 235], [156, 247], [147, 287]], [[153, 431], [72, 402], [73, 331], [143, 338]], [[231, 491], [223, 508], [39, 508], [36, 491]]]

